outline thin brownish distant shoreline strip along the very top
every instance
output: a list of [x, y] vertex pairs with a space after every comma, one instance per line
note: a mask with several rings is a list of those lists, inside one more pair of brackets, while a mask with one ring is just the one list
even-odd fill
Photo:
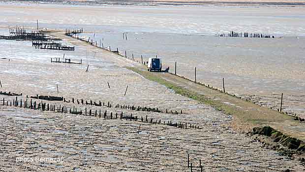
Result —
[[70, 4], [70, 5], [142, 5], [142, 6], [305, 6], [305, 0], [1, 0], [8, 3]]

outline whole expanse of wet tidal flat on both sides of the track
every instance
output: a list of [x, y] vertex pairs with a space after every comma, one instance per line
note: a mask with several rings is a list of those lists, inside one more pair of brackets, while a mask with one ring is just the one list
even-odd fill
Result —
[[[134, 54], [139, 60], [143, 55], [146, 61], [157, 55], [171, 71], [177, 61], [178, 74], [189, 78], [197, 67], [198, 81], [221, 88], [224, 77], [229, 93], [265, 106], [278, 107], [278, 95], [283, 92], [284, 110], [304, 115], [302, 6], [99, 6], [58, 1], [38, 5], [5, 1], [0, 9], [1, 34], [7, 35], [7, 28], [16, 25], [35, 30], [38, 20], [41, 31], [52, 31], [49, 34], [63, 38], [58, 42], [75, 46], [75, 51], [55, 51], [35, 49], [30, 41], [0, 40], [1, 91], [23, 93], [18, 98], [23, 101], [28, 95], [28, 102], [37, 94], [109, 102], [112, 107], [44, 101], [56, 108], [91, 109], [93, 114], [107, 110], [108, 114], [187, 124], [187, 129], [181, 129], [0, 102], [1, 170], [190, 171], [187, 166], [192, 164], [193, 171], [200, 171], [200, 161], [203, 170], [214, 172], [305, 170], [299, 160], [304, 155], [282, 155], [264, 137], [251, 136], [251, 128], [258, 125], [255, 121], [237, 130], [234, 114], [178, 95], [128, 69], [142, 69], [139, 63], [63, 36], [65, 28], [84, 28], [80, 36], [91, 37], [105, 47], [118, 47], [128, 57]], [[216, 36], [231, 30], [274, 34], [276, 38]], [[51, 63], [51, 58], [63, 59], [63, 54], [71, 61], [82, 59], [83, 64]], [[0, 95], [0, 101], [3, 98], [9, 102], [15, 99]], [[182, 110], [183, 114], [116, 108], [117, 103], [163, 112]], [[302, 126], [296, 131], [304, 131]], [[290, 127], [297, 128], [295, 124]], [[27, 161], [36, 157], [60, 161]]]

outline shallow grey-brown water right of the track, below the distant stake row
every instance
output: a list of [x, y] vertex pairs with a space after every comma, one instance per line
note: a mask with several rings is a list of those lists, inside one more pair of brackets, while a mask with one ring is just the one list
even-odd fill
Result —
[[[254, 98], [255, 102], [279, 108], [284, 94], [284, 109], [305, 113], [305, 37], [230, 38], [184, 34], [85, 33], [86, 37], [101, 40], [104, 47], [118, 47], [122, 55], [144, 61], [157, 55], [164, 69], [168, 66], [177, 74], [222, 89]], [[162, 40], [162, 41], [160, 41]], [[99, 41], [98, 41], [99, 42]], [[99, 43], [98, 43], [99, 44]], [[109, 48], [109, 47], [108, 47]], [[264, 99], [264, 97], [270, 99]]]

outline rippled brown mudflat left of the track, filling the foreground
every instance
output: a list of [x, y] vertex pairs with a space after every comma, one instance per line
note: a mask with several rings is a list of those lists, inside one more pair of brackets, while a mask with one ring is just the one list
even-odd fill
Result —
[[[19, 42], [12, 42], [18, 45]], [[72, 42], [78, 51], [75, 59], [92, 51], [82, 43]], [[231, 115], [205, 104], [177, 95], [164, 86], [131, 72], [122, 65], [135, 66], [129, 60], [110, 52], [96, 50], [89, 72], [86, 65], [54, 64], [53, 51], [38, 50], [27, 43], [20, 49], [31, 49], [31, 59], [18, 59], [16, 54], [9, 62], [1, 60], [2, 89], [22, 92], [25, 95], [60, 95], [66, 98], [104, 100], [111, 103], [140, 104], [160, 109], [183, 109], [186, 114], [160, 114], [123, 110], [124, 113], [172, 122], [187, 122], [200, 129], [178, 129], [128, 120], [89, 117], [83, 115], [43, 112], [10, 106], [1, 111], [1, 163], [4, 171], [187, 171], [187, 154], [190, 163], [206, 171], [303, 171], [302, 163], [294, 158], [280, 156], [266, 149], [247, 134], [236, 133]], [[48, 54], [44, 60], [39, 53]], [[19, 54], [19, 55], [18, 55]], [[79, 55], [77, 55], [79, 54]], [[57, 54], [54, 54], [56, 56]], [[86, 61], [85, 61], [86, 62]], [[22, 71], [21, 71], [22, 70]], [[109, 81], [111, 88], [106, 84]], [[14, 84], [10, 84], [14, 83]], [[59, 85], [59, 94], [56, 90]], [[122, 96], [125, 86], [129, 90]], [[6, 96], [1, 98], [12, 100]], [[57, 102], [61, 104], [60, 102]], [[66, 103], [69, 104], [69, 103]], [[90, 105], [75, 105], [78, 109]], [[92, 107], [92, 109], [100, 109]], [[102, 110], [122, 111], [102, 107]], [[141, 124], [139, 134], [138, 128]], [[16, 162], [18, 157], [62, 158], [59, 162]], [[199, 171], [199, 168], [194, 170]]]

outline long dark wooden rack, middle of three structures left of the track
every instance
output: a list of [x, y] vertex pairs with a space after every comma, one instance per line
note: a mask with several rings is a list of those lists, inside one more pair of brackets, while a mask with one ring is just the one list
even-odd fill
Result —
[[57, 42], [32, 42], [32, 46], [34, 46], [35, 48], [40, 48], [40, 49], [49, 49], [49, 50], [64, 50], [64, 51], [74, 51], [75, 48], [70, 47], [70, 46], [66, 46], [66, 45], [62, 45], [61, 43], [57, 43]]

